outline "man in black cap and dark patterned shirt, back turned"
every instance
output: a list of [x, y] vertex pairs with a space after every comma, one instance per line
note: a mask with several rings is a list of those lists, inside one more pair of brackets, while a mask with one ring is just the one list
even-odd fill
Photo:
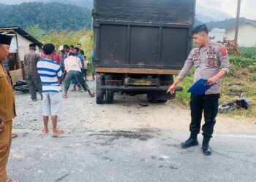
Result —
[[29, 87], [31, 99], [37, 101], [37, 92], [39, 92], [42, 100], [42, 85], [40, 77], [37, 74], [37, 62], [41, 58], [40, 55], [35, 52], [37, 50], [35, 44], [30, 44], [29, 50], [30, 52], [26, 54], [24, 58], [26, 83]]

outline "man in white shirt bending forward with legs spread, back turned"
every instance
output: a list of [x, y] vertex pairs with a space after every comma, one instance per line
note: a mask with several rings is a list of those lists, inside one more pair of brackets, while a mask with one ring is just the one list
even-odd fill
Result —
[[67, 71], [67, 76], [64, 81], [64, 95], [63, 98], [67, 98], [67, 90], [69, 90], [70, 82], [75, 79], [83, 87], [83, 90], [89, 92], [89, 95], [94, 97], [91, 93], [86, 81], [83, 79], [83, 74], [81, 72], [82, 63], [79, 58], [75, 57], [74, 52], [69, 52], [69, 57], [64, 60], [65, 69]]

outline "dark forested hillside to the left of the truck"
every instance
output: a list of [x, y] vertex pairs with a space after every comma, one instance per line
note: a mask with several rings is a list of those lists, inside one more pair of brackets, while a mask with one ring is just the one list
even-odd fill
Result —
[[91, 28], [91, 10], [61, 3], [0, 4], [0, 27], [17, 25], [26, 29], [39, 24], [39, 28], [50, 30], [70, 29], [72, 31]]

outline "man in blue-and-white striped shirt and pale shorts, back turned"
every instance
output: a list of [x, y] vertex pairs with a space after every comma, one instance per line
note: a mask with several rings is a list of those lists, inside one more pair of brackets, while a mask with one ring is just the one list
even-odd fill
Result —
[[62, 98], [59, 92], [61, 90], [59, 79], [61, 79], [62, 71], [59, 64], [53, 61], [54, 50], [53, 44], [45, 44], [43, 47], [45, 58], [37, 63], [37, 71], [42, 83], [42, 115], [44, 121], [42, 134], [48, 133], [48, 121], [49, 116], [51, 116], [53, 137], [57, 137], [64, 133], [63, 130], [57, 130], [57, 116], [63, 112]]

